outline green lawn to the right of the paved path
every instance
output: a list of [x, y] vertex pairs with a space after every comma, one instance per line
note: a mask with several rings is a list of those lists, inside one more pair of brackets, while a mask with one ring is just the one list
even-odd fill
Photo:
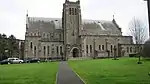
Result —
[[139, 65], [135, 58], [73, 60], [69, 65], [87, 84], [150, 84], [150, 61]]

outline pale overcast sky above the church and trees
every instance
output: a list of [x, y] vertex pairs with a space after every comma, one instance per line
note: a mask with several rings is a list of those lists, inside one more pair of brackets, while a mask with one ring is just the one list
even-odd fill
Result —
[[[70, 0], [76, 1], [76, 0]], [[32, 17], [62, 17], [65, 0], [0, 0], [0, 33], [25, 38], [26, 12]], [[112, 20], [113, 14], [123, 34], [133, 17], [147, 23], [147, 4], [143, 0], [81, 0], [83, 19]]]

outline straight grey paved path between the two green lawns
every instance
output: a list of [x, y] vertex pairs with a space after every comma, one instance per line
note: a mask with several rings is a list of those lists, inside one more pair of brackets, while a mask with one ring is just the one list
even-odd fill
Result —
[[69, 68], [67, 62], [60, 62], [57, 73], [57, 84], [84, 84], [83, 81]]

